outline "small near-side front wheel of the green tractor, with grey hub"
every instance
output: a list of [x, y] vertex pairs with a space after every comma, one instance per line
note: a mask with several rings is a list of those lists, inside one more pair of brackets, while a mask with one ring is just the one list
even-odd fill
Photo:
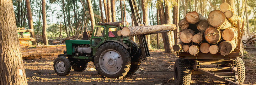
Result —
[[53, 63], [53, 69], [55, 73], [57, 73], [60, 76], [66, 76], [70, 73], [70, 62], [66, 57], [58, 57], [55, 59]]

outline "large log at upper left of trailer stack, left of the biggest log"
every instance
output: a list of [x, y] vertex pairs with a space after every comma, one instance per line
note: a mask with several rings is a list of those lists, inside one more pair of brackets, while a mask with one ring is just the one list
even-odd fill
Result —
[[197, 13], [196, 11], [192, 11], [192, 12], [188, 12], [185, 16], [186, 20], [188, 23], [190, 24], [195, 24], [201, 20], [206, 20], [205, 17], [203, 17], [202, 15], [200, 15], [199, 13]]

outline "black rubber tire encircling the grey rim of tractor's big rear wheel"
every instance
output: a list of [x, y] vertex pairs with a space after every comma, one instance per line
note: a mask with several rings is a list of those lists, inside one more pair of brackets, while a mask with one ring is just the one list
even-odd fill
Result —
[[[116, 50], [117, 52], [119, 52], [119, 54], [122, 57], [123, 60], [123, 66], [120, 68], [121, 70], [119, 70], [119, 72], [117, 72], [116, 74], [110, 75], [107, 74], [105, 72], [103, 72], [103, 70], [100, 67], [100, 56], [101, 53], [103, 53], [103, 51], [108, 50], [108, 49], [113, 49]], [[95, 58], [94, 58], [94, 66], [98, 72], [98, 74], [100, 74], [102, 77], [105, 78], [123, 78], [124, 76], [127, 75], [128, 71], [130, 70], [130, 65], [131, 65], [131, 61], [130, 61], [130, 56], [129, 56], [129, 52], [124, 48], [124, 46], [122, 46], [119, 43], [116, 42], [107, 42], [103, 45], [101, 45], [100, 47], [98, 47], [97, 52], [95, 54]]]

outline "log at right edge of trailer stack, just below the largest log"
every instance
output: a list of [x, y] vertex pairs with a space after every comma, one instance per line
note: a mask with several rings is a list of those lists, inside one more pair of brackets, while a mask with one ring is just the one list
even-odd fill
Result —
[[231, 41], [238, 37], [237, 28], [228, 28], [222, 32], [222, 38], [226, 41]]

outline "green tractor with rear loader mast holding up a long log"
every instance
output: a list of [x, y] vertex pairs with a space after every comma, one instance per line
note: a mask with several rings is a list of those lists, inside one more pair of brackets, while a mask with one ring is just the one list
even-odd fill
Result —
[[[136, 1], [129, 0], [129, 4], [135, 26], [144, 26]], [[66, 40], [66, 51], [54, 61], [55, 73], [65, 76], [71, 68], [82, 72], [90, 61], [94, 62], [98, 74], [105, 78], [123, 78], [134, 73], [150, 54], [145, 35], [137, 35], [139, 45], [128, 36], [117, 35], [117, 31], [124, 27], [127, 27], [126, 21], [98, 23], [90, 40]], [[161, 32], [166, 31], [169, 30]]]

